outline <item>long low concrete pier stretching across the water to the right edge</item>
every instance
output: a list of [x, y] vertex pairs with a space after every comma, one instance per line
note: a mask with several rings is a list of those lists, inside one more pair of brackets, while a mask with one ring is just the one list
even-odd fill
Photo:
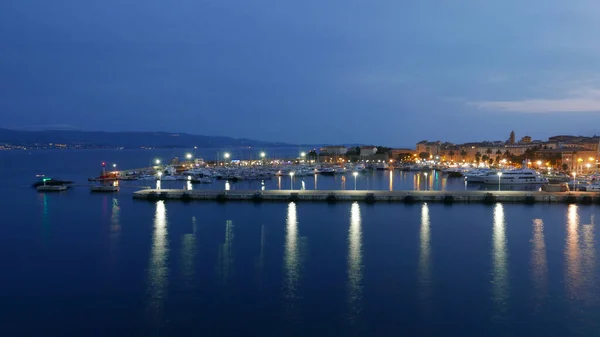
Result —
[[134, 192], [136, 199], [146, 200], [216, 200], [216, 201], [321, 201], [348, 202], [439, 202], [452, 203], [580, 203], [600, 204], [598, 192], [529, 192], [529, 191], [217, 191], [217, 190], [174, 190], [147, 189]]

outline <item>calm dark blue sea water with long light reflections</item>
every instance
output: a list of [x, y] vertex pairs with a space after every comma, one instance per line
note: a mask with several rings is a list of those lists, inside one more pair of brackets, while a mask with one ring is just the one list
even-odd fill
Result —
[[83, 181], [103, 160], [156, 155], [0, 153], [0, 336], [600, 332], [595, 206], [186, 204], [29, 187], [36, 173]]

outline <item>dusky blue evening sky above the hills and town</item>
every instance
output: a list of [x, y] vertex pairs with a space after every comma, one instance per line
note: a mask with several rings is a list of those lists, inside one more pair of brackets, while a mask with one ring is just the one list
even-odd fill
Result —
[[597, 0], [3, 0], [0, 127], [414, 146], [600, 134]]

